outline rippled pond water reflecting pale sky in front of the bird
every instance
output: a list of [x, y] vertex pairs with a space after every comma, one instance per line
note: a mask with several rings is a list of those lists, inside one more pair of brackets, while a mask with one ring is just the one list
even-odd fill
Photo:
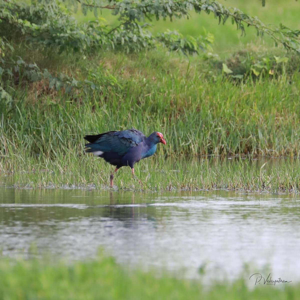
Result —
[[[300, 280], [298, 195], [0, 188], [3, 255], [67, 259], [99, 248], [124, 265], [188, 278], [271, 272]], [[245, 271], [245, 264], [248, 265]]]

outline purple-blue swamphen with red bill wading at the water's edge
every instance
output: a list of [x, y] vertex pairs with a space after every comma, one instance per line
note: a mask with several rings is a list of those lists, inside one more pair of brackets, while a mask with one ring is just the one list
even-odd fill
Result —
[[[108, 131], [97, 135], [86, 135], [84, 137], [89, 143], [85, 152], [91, 152], [96, 156], [104, 158], [111, 165], [116, 166], [114, 172], [123, 166], [131, 167], [134, 175], [134, 164], [143, 158], [153, 155], [156, 144], [166, 141], [160, 132], [153, 132], [146, 137], [136, 129], [122, 131]], [[113, 186], [113, 173], [110, 175], [110, 186]]]

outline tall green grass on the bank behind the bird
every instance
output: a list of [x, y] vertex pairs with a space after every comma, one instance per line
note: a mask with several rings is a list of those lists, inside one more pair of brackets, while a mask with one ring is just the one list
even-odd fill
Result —
[[98, 74], [97, 84], [108, 73], [113, 78], [100, 94], [15, 86], [13, 100], [0, 108], [2, 155], [83, 152], [85, 134], [134, 127], [164, 134], [159, 154], [299, 156], [297, 65], [290, 73], [283, 65], [276, 76], [237, 82], [214, 73], [213, 64], [163, 52], [107, 54], [85, 63]]

